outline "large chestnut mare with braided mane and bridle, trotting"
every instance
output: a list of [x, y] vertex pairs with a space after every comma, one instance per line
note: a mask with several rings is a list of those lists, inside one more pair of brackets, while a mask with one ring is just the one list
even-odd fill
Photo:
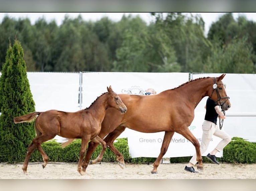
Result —
[[[170, 140], [174, 132], [177, 132], [195, 146], [199, 162], [197, 167], [199, 170], [203, 170], [199, 141], [188, 129], [188, 126], [194, 119], [196, 106], [205, 96], [211, 97], [221, 105], [223, 110], [231, 107], [229, 97], [222, 83], [224, 77], [225, 74], [217, 78], [207, 77], [191, 80], [177, 88], [152, 96], [120, 94], [119, 96], [127, 106], [128, 111], [120, 115], [112, 108], [107, 109], [99, 136], [103, 138], [107, 135], [104, 141], [117, 156], [117, 161], [123, 168], [123, 155], [113, 146], [113, 142], [126, 127], [144, 133], [165, 131], [160, 154], [153, 163], [153, 170], [151, 170], [151, 173], [157, 173], [157, 167], [168, 149]], [[72, 139], [68, 140], [66, 145], [72, 141]], [[85, 167], [87, 167], [97, 145], [97, 143], [89, 143], [84, 160]], [[95, 160], [91, 161], [91, 164], [101, 161], [104, 149]]]

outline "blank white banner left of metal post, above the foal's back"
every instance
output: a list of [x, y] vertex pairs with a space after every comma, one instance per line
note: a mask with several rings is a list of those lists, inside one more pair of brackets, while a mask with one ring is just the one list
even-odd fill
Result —
[[36, 111], [79, 110], [79, 73], [28, 72]]

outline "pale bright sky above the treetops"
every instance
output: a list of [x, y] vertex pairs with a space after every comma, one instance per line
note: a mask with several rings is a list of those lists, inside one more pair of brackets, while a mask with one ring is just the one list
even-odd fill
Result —
[[[69, 15], [70, 18], [76, 18], [79, 14], [81, 14], [82, 18], [86, 21], [97, 21], [100, 20], [102, 17], [106, 16], [109, 19], [113, 20], [113, 21], [119, 21], [121, 20], [122, 16], [125, 15], [139, 15], [146, 23], [150, 23], [150, 21], [152, 20], [152, 17], [150, 15], [150, 13], [63, 13], [63, 12], [58, 12], [58, 13], [54, 13], [54, 12], [48, 12], [48, 13], [42, 13], [42, 12], [35, 12], [35, 13], [24, 13], [24, 12], [15, 12], [15, 13], [0, 13], [0, 22], [2, 22], [2, 19], [4, 18], [5, 15], [8, 15], [9, 17], [13, 17], [13, 18], [29, 18], [31, 24], [34, 24], [35, 21], [37, 21], [39, 18], [44, 17], [45, 20], [47, 22], [51, 21], [51, 20], [55, 20], [57, 25], [60, 25], [65, 17], [65, 15]], [[209, 28], [211, 26], [211, 24], [213, 22], [216, 22], [218, 20], [218, 18], [220, 16], [222, 16], [225, 13], [215, 13], [215, 12], [203, 12], [203, 13], [192, 13], [193, 15], [199, 14], [202, 16], [202, 18], [205, 21], [205, 34], [208, 33]], [[252, 20], [254, 22], [256, 22], [256, 13], [233, 13], [233, 16], [235, 19], [237, 19], [237, 17], [243, 14], [246, 16], [246, 18], [248, 20]]]

